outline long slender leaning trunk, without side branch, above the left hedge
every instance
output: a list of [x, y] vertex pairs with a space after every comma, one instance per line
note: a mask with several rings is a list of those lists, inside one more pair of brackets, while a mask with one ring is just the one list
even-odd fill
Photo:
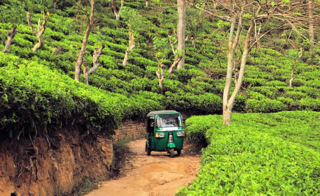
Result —
[[91, 13], [90, 13], [90, 18], [88, 21], [88, 25], [87, 25], [87, 29], [85, 31], [84, 34], [84, 38], [82, 40], [82, 45], [81, 45], [81, 49], [80, 52], [78, 54], [78, 59], [76, 61], [76, 69], [75, 69], [75, 80], [80, 82], [80, 71], [81, 71], [81, 65], [83, 63], [83, 57], [84, 57], [84, 53], [85, 50], [87, 49], [87, 42], [88, 42], [88, 38], [91, 32], [91, 28], [92, 28], [92, 20], [94, 18], [94, 6], [95, 6], [95, 2], [94, 0], [91, 0]]

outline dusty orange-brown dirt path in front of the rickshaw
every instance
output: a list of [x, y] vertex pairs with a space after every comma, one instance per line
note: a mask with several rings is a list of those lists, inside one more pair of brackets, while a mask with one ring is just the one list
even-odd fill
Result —
[[181, 186], [196, 178], [200, 155], [182, 150], [180, 155], [175, 152], [174, 158], [155, 151], [147, 156], [145, 140], [132, 141], [129, 147], [134, 155], [126, 163], [125, 176], [101, 182], [99, 189], [86, 196], [174, 195]]

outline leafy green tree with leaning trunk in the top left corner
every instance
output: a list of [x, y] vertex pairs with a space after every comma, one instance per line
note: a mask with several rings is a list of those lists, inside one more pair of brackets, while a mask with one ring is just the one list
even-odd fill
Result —
[[7, 31], [8, 39], [5, 42], [2, 52], [7, 53], [12, 44], [14, 37], [17, 34], [18, 24], [22, 23], [25, 16], [24, 2], [23, 1], [10, 1], [5, 0], [0, 5], [0, 22], [10, 23], [11, 30]]

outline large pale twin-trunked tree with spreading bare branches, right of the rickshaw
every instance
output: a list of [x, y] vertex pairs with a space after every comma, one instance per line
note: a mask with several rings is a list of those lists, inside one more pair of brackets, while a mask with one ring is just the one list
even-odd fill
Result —
[[[223, 92], [223, 124], [231, 123], [231, 113], [233, 103], [240, 91], [244, 78], [245, 65], [251, 49], [260, 45], [260, 41], [265, 38], [273, 30], [289, 28], [294, 31], [301, 39], [306, 36], [300, 32], [300, 29], [308, 30], [309, 19], [318, 18], [314, 14], [308, 14], [308, 2], [304, 0], [283, 1], [275, 0], [267, 1], [207, 1], [189, 2], [196, 9], [209, 14], [217, 19], [227, 21], [229, 23], [229, 39], [228, 39], [228, 64], [226, 83]], [[318, 4], [312, 4], [312, 7], [319, 7]], [[266, 22], [271, 22], [270, 27]], [[257, 27], [259, 24], [259, 27]], [[261, 25], [260, 25], [261, 24]], [[257, 29], [260, 30], [257, 30]], [[242, 33], [245, 32], [244, 39], [241, 39]], [[238, 79], [235, 88], [230, 95], [232, 85], [232, 75], [234, 62], [236, 59], [236, 50], [241, 53], [238, 59], [240, 62], [240, 70], [238, 71]], [[235, 69], [236, 70], [236, 69]]]

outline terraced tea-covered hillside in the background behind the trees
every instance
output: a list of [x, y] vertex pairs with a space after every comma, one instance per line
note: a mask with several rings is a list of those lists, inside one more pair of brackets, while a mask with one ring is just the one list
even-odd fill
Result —
[[[120, 4], [120, 1], [117, 3]], [[0, 6], [3, 5], [0, 3]], [[76, 19], [79, 11], [72, 6], [64, 2], [50, 9], [49, 21], [44, 33], [44, 47], [37, 52], [32, 52], [37, 37], [30, 31], [26, 20], [23, 20], [17, 27], [18, 32], [9, 55], [1, 56], [4, 60], [1, 61], [0, 66], [6, 67], [9, 64], [13, 66], [12, 61], [41, 64], [39, 67], [55, 70], [52, 74], [59, 72], [63, 77], [68, 75], [74, 78], [75, 62], [82, 39], [79, 32], [84, 31], [85, 27], [80, 29], [81, 24]], [[33, 24], [37, 23], [38, 17], [42, 17], [36, 8], [26, 7], [25, 9], [31, 12]], [[190, 9], [189, 12], [195, 11]], [[137, 20], [131, 21], [132, 15]], [[210, 78], [203, 72], [209, 67], [213, 70], [220, 67], [218, 62], [213, 62], [219, 47], [213, 44], [213, 39], [222, 40], [224, 33], [211, 36], [211, 30], [218, 28], [215, 21], [204, 20], [198, 26], [189, 29], [196, 32], [199, 37], [195, 41], [196, 48], [193, 48], [191, 42], [186, 43], [186, 69], [175, 70], [172, 74], [165, 72], [161, 94], [155, 73], [156, 50], [163, 47], [165, 43], [166, 50], [170, 51], [167, 29], [173, 32], [176, 28], [174, 24], [176, 15], [176, 9], [168, 8], [161, 16], [155, 14], [150, 7], [145, 7], [145, 1], [125, 0], [120, 20], [116, 20], [110, 12], [101, 16], [99, 26], [96, 26], [89, 36], [85, 53], [85, 61], [91, 67], [94, 48], [101, 43], [106, 45], [99, 59], [101, 66], [89, 76], [89, 84], [101, 88], [99, 92], [106, 94], [101, 98], [108, 99], [109, 95], [112, 97], [108, 93], [112, 92], [119, 94], [117, 96], [127, 97], [128, 100], [136, 100], [133, 102], [137, 102], [140, 106], [145, 105], [148, 109], [176, 109], [184, 110], [189, 114], [220, 114], [222, 112], [224, 76], [222, 74]], [[129, 54], [128, 64], [124, 67], [122, 60], [128, 45], [130, 22], [132, 22], [131, 28], [134, 31], [136, 47]], [[11, 28], [11, 24], [2, 22], [0, 27], [0, 42], [4, 44], [7, 39], [6, 31]], [[3, 47], [0, 45], [0, 49]], [[172, 64], [173, 54], [166, 52], [165, 55], [163, 63], [168, 69]], [[259, 49], [252, 54], [246, 68], [243, 92], [236, 98], [234, 110], [267, 113], [282, 110], [320, 110], [319, 66], [304, 63], [303, 61], [306, 60], [304, 57], [298, 61], [294, 60], [298, 55], [298, 51], [294, 49], [287, 49], [284, 55], [272, 49]], [[222, 59], [221, 63], [220, 71], [225, 72], [225, 59], [224, 61]], [[289, 79], [293, 68], [296, 72], [291, 88]], [[83, 82], [84, 78], [81, 77]], [[22, 85], [26, 81], [21, 79], [20, 82]], [[64, 83], [64, 81], [61, 82]], [[80, 84], [68, 83], [68, 85], [73, 89]], [[132, 113], [142, 116], [146, 110], [140, 110], [139, 114], [133, 111]]]

